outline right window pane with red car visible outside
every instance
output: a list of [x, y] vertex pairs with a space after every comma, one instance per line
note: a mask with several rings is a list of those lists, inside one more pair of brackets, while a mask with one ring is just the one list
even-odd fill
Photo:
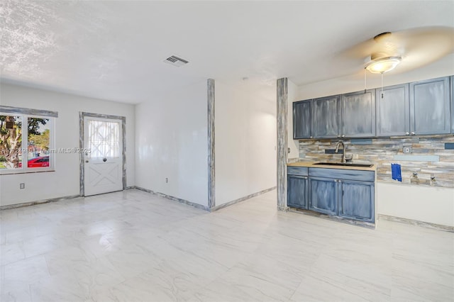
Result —
[[28, 118], [27, 167], [49, 167], [49, 145], [49, 118]]

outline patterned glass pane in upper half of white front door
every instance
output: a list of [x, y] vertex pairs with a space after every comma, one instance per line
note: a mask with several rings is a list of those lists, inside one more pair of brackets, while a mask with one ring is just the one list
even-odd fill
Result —
[[88, 121], [90, 158], [120, 157], [120, 124], [109, 121]]

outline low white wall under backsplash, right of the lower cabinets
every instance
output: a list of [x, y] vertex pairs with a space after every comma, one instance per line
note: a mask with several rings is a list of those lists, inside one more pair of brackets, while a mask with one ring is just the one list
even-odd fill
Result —
[[380, 214], [454, 226], [454, 188], [377, 183]]

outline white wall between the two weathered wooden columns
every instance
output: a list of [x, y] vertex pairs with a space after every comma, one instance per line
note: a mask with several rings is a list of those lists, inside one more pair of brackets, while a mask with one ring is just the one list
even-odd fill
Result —
[[276, 186], [276, 84], [249, 81], [216, 80], [215, 206]]

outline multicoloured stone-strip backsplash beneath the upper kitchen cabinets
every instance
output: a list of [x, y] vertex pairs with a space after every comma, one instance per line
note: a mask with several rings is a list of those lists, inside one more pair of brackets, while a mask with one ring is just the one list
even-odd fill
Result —
[[[300, 140], [299, 161], [340, 162], [339, 154], [326, 154], [336, 149], [338, 140]], [[402, 167], [402, 184], [454, 187], [454, 135], [431, 137], [374, 138], [343, 140], [346, 154], [353, 154], [353, 162], [377, 164], [377, 181], [394, 184], [401, 182], [391, 178], [391, 164]], [[403, 152], [411, 147], [411, 153]], [[291, 160], [289, 160], [291, 161]], [[413, 176], [417, 173], [416, 177]], [[431, 180], [435, 177], [435, 180]]]

